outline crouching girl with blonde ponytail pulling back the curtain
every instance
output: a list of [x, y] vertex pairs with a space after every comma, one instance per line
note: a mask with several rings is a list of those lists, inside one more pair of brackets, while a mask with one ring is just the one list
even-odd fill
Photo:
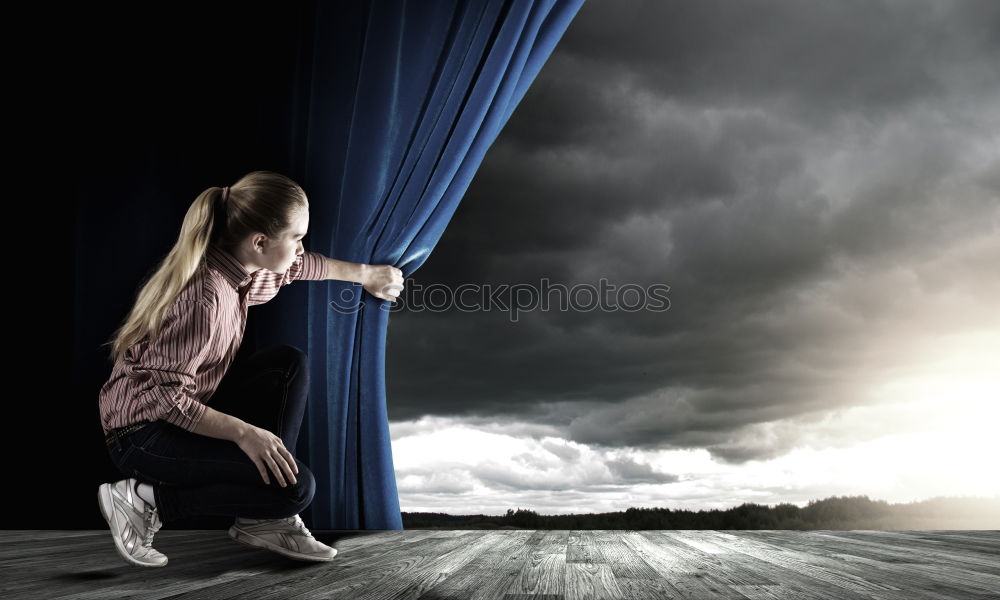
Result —
[[101, 426], [128, 477], [98, 489], [115, 548], [162, 567], [164, 522], [235, 517], [234, 540], [299, 560], [332, 560], [299, 517], [312, 473], [292, 455], [305, 411], [305, 354], [272, 346], [232, 365], [247, 308], [293, 281], [342, 279], [396, 301], [402, 272], [306, 252], [309, 204], [294, 181], [255, 171], [191, 204], [180, 237], [111, 341]]

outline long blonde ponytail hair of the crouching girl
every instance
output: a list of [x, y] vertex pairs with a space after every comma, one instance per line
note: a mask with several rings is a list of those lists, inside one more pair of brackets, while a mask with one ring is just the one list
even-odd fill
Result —
[[198, 269], [205, 264], [209, 244], [229, 252], [253, 233], [277, 239], [292, 225], [299, 209], [309, 201], [301, 187], [284, 175], [253, 171], [230, 186], [225, 203], [221, 187], [198, 194], [181, 224], [180, 236], [153, 274], [140, 282], [128, 317], [111, 339], [109, 360], [114, 363], [147, 335], [156, 337], [163, 316]]

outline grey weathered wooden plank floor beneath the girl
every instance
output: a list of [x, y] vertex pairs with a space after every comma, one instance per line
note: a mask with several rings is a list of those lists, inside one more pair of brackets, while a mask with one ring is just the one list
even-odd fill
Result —
[[0, 531], [0, 598], [1000, 598], [1000, 531], [314, 531], [307, 563], [225, 531], [161, 530], [133, 567], [108, 531]]

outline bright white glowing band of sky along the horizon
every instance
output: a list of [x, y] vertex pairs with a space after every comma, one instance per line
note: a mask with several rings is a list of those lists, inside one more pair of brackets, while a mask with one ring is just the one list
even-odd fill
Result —
[[[819, 422], [766, 424], [762, 434], [792, 431], [800, 443], [776, 458], [740, 465], [716, 461], [705, 449], [591, 447], [530, 424], [440, 417], [394, 423], [393, 431], [403, 432], [393, 437], [401, 506], [408, 512], [503, 514], [520, 507], [564, 514], [630, 506], [725, 509], [744, 502], [805, 506], [848, 495], [892, 503], [1000, 495], [992, 464], [1000, 456], [1000, 437], [992, 432], [1000, 422], [997, 337], [952, 336], [947, 348], [936, 346], [945, 358], [895, 370], [896, 379], [872, 390], [871, 404]], [[880, 429], [884, 434], [870, 433]], [[859, 435], [867, 439], [852, 439]]]

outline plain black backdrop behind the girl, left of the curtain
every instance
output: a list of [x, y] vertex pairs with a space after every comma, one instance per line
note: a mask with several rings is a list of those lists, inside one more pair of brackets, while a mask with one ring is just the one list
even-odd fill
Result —
[[[302, 180], [314, 3], [51, 11], [9, 23], [28, 33], [8, 137], [18, 192], [6, 203], [2, 527], [104, 529], [97, 486], [122, 475], [98, 416], [111, 372], [101, 344], [199, 192], [257, 169]], [[256, 349], [268, 312], [296, 301], [289, 292], [250, 311], [241, 353]]]

